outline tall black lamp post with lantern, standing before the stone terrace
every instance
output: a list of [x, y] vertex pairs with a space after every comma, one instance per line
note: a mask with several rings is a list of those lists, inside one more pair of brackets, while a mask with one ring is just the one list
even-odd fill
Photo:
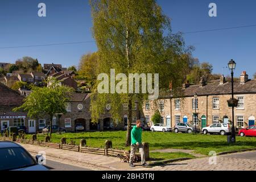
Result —
[[[229, 69], [231, 71], [231, 85], [232, 85], [232, 101], [234, 101], [234, 72], [233, 70], [236, 68], [236, 62], [232, 59], [228, 63]], [[232, 133], [231, 133], [231, 142], [236, 142], [236, 131], [234, 128], [234, 104], [232, 105]]]

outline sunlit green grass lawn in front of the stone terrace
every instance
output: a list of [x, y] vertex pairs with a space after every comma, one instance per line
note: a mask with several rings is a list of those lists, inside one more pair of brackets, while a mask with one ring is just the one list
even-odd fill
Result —
[[[32, 135], [27, 135], [31, 138]], [[104, 132], [85, 132], [85, 133], [65, 133], [52, 134], [51, 142], [59, 143], [61, 137], [67, 138], [67, 143], [72, 139], [79, 144], [80, 139], [86, 139], [87, 146], [104, 148], [105, 140], [112, 140], [113, 148], [129, 150], [125, 147], [126, 131], [104, 131]], [[43, 140], [43, 137], [39, 137]], [[209, 151], [224, 152], [256, 147], [255, 137], [236, 137], [234, 144], [227, 143], [227, 137], [221, 135], [203, 135], [203, 134], [184, 134], [184, 133], [162, 133], [143, 131], [142, 141], [148, 142], [150, 151], [164, 148], [181, 148], [195, 150], [196, 153], [208, 155]], [[182, 152], [159, 153], [150, 152], [151, 157], [174, 159], [183, 157], [192, 157]]]

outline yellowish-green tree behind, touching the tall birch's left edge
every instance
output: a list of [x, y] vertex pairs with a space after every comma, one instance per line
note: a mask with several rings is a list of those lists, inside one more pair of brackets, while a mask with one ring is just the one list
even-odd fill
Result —
[[93, 85], [96, 82], [98, 67], [98, 54], [97, 52], [88, 53], [83, 55], [79, 63], [79, 75], [82, 76], [86, 82]]

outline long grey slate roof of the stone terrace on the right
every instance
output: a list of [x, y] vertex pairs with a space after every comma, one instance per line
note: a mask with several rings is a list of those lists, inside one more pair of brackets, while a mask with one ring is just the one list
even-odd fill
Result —
[[[197, 96], [222, 95], [231, 94], [231, 89], [231, 82], [225, 82], [225, 84], [222, 85], [218, 82], [205, 86], [190, 85], [188, 88], [181, 89], [181, 94], [184, 97], [193, 97], [195, 93], [197, 93]], [[241, 84], [240, 81], [234, 81], [234, 94], [246, 93], [256, 93], [256, 79], [248, 80], [244, 84]], [[172, 97], [175, 97], [173, 92], [164, 93], [162, 95], [162, 98]]]

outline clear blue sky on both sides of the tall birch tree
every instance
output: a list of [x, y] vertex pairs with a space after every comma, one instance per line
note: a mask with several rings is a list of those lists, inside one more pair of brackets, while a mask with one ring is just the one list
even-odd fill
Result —
[[[38, 16], [38, 4], [46, 3], [47, 17]], [[191, 32], [256, 24], [256, 1], [158, 0], [164, 14], [172, 19], [173, 32]], [[217, 5], [217, 17], [209, 17], [208, 5]], [[88, 0], [1, 0], [0, 62], [14, 63], [23, 56], [40, 63], [65, 67], [78, 65], [81, 55], [97, 51], [94, 42], [45, 47], [9, 48], [66, 42], [92, 41]], [[230, 59], [237, 62], [235, 76], [256, 72], [256, 26], [184, 34], [186, 44], [195, 46], [193, 56], [222, 73]], [[229, 70], [224, 68], [224, 75]]]

